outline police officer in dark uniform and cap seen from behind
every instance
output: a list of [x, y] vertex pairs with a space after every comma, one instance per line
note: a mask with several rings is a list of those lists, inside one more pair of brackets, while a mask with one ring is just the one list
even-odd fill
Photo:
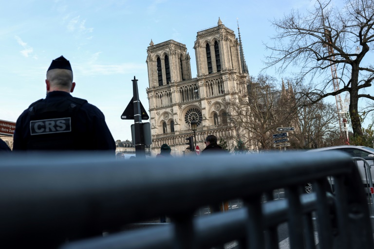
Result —
[[13, 150], [105, 150], [115, 142], [104, 114], [87, 100], [70, 95], [75, 88], [70, 62], [52, 61], [45, 80], [47, 96], [19, 116]]

